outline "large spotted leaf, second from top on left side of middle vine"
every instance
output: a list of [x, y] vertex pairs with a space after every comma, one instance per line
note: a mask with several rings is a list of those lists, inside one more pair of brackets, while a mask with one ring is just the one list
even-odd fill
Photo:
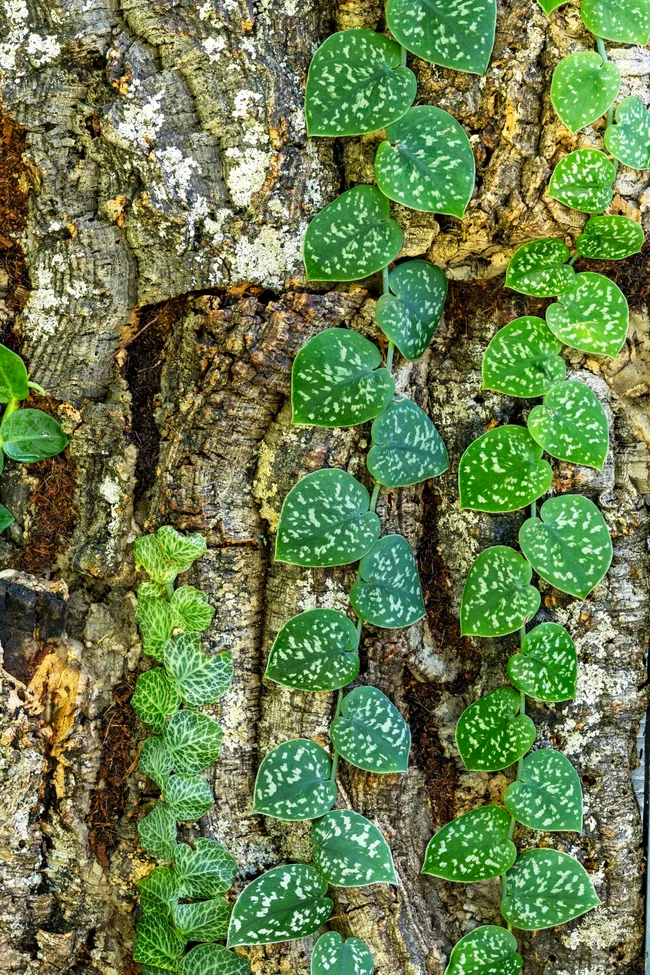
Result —
[[353, 186], [307, 227], [303, 260], [308, 281], [358, 281], [395, 260], [403, 242], [390, 204], [376, 186]]

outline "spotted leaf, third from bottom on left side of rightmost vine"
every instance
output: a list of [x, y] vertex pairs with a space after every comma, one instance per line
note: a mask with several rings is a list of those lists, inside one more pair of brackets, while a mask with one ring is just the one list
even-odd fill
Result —
[[508, 768], [535, 743], [535, 725], [520, 714], [521, 695], [500, 687], [470, 704], [456, 725], [456, 745], [470, 772]]

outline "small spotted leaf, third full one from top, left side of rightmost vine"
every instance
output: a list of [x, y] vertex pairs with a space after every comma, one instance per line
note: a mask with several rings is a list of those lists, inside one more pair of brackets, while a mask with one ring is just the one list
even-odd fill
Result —
[[571, 251], [563, 240], [542, 237], [518, 247], [510, 258], [506, 287], [523, 295], [552, 298], [573, 286], [575, 271], [566, 262]]

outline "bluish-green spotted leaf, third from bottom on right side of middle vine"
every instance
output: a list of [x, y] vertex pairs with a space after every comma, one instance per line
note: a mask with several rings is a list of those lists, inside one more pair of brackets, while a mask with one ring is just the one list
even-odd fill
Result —
[[406, 772], [411, 732], [385, 694], [376, 687], [355, 687], [330, 725], [334, 748], [350, 765], [366, 772]]

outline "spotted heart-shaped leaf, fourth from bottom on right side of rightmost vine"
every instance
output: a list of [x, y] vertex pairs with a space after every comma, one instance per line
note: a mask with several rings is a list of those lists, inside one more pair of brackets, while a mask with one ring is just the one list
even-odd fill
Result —
[[550, 498], [539, 514], [519, 530], [522, 552], [542, 579], [584, 599], [605, 577], [612, 561], [605, 519], [593, 501], [578, 494]]

